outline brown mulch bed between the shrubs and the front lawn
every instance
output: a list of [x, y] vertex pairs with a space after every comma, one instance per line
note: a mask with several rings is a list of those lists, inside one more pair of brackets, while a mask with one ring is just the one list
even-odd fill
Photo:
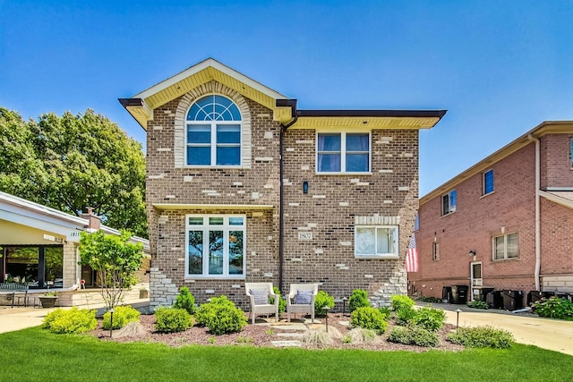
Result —
[[[349, 321], [349, 317], [343, 316], [341, 313], [329, 313], [329, 330], [334, 327], [342, 337], [346, 335], [352, 327], [341, 325], [341, 321]], [[281, 318], [281, 321], [283, 318]], [[285, 318], [286, 320], [286, 318]], [[324, 327], [325, 319], [318, 318], [321, 325], [316, 327]], [[249, 324], [244, 327], [243, 331], [240, 333], [233, 333], [229, 335], [213, 335], [209, 331], [209, 327], [198, 327], [194, 326], [184, 332], [165, 334], [158, 333], [155, 331], [155, 316], [154, 315], [141, 315], [140, 322], [142, 329], [140, 334], [126, 335], [122, 337], [117, 337], [119, 332], [115, 330], [110, 337], [109, 330], [104, 330], [101, 327], [101, 321], [98, 323], [96, 330], [91, 332], [100, 338], [102, 341], [116, 341], [116, 342], [147, 342], [147, 343], [160, 343], [167, 344], [169, 346], [184, 346], [189, 344], [200, 344], [209, 346], [221, 346], [221, 345], [244, 345], [249, 344], [259, 347], [274, 347], [272, 341], [290, 341], [298, 340], [298, 338], [283, 337], [278, 336], [279, 333], [296, 333], [295, 330], [281, 329], [280, 326], [267, 326], [267, 325], [252, 325], [250, 320]], [[272, 322], [273, 320], [270, 320]], [[294, 320], [297, 322], [296, 320]], [[260, 322], [260, 321], [259, 321]], [[302, 322], [298, 320], [298, 322]], [[440, 346], [437, 348], [425, 348], [416, 345], [405, 345], [405, 344], [394, 344], [386, 341], [387, 335], [390, 328], [394, 325], [393, 322], [389, 323], [389, 328], [386, 334], [381, 335], [381, 341], [371, 344], [344, 344], [342, 338], [335, 338], [332, 344], [328, 346], [322, 346], [329, 349], [365, 349], [373, 351], [410, 351], [410, 352], [427, 352], [430, 349], [437, 349], [443, 351], [460, 351], [464, 347], [458, 344], [451, 344], [446, 341], [446, 335], [450, 331], [455, 330], [456, 327], [446, 324], [438, 333], [440, 336]], [[299, 331], [298, 333], [303, 333]], [[116, 335], [115, 337], [113, 335]], [[318, 349], [321, 346], [316, 344], [303, 344], [306, 349]]]

